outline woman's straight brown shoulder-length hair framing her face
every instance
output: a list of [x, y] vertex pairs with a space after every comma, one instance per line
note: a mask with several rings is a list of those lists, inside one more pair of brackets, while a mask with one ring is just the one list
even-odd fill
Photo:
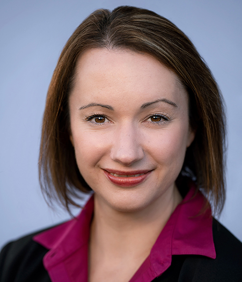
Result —
[[[221, 212], [225, 201], [226, 118], [223, 98], [196, 48], [173, 23], [149, 10], [121, 6], [97, 10], [74, 31], [61, 52], [48, 89], [40, 146], [39, 175], [48, 199], [69, 210], [80, 191], [91, 188], [82, 178], [70, 142], [68, 95], [80, 54], [90, 48], [126, 48], [148, 53], [172, 70], [189, 95], [190, 125], [196, 137], [188, 148], [184, 171], [193, 171], [197, 187]], [[189, 168], [189, 169], [187, 169]]]

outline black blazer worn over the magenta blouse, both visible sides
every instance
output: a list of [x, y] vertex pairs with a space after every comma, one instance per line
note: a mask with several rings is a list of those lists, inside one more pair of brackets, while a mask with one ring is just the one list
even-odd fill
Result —
[[[51, 282], [42, 263], [48, 250], [32, 240], [38, 233], [10, 242], [2, 249], [0, 282]], [[242, 282], [242, 243], [215, 219], [213, 240], [216, 259], [173, 255], [171, 266], [153, 281]]]

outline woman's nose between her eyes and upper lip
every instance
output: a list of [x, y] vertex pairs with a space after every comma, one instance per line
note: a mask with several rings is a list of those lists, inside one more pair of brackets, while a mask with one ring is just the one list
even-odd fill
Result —
[[144, 157], [138, 129], [134, 125], [121, 125], [115, 131], [110, 157], [124, 166], [130, 166]]

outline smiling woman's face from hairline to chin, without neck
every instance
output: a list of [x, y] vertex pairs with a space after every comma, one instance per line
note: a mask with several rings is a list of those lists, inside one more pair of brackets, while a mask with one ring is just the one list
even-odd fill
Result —
[[76, 162], [100, 201], [135, 211], [172, 198], [194, 139], [173, 72], [146, 54], [87, 50], [69, 107]]

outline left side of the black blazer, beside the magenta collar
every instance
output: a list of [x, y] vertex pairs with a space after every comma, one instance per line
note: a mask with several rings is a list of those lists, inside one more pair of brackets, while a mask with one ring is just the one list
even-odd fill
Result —
[[0, 282], [50, 282], [42, 262], [48, 250], [32, 240], [43, 231], [21, 237], [3, 247], [0, 252]]

